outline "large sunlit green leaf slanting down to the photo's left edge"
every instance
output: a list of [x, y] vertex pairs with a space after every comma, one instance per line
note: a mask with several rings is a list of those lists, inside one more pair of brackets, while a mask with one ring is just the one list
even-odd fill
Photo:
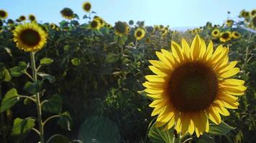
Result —
[[4, 99], [1, 102], [0, 112], [5, 112], [10, 109], [19, 101], [19, 94], [16, 89], [11, 89], [4, 95]]

